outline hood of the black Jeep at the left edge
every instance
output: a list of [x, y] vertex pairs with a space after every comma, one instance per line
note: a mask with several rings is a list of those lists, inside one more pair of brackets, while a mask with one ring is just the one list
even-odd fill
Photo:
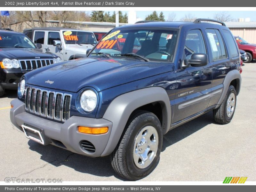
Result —
[[30, 48], [2, 48], [0, 49], [0, 58], [8, 59], [40, 59], [55, 58], [52, 54], [44, 53], [41, 49]]

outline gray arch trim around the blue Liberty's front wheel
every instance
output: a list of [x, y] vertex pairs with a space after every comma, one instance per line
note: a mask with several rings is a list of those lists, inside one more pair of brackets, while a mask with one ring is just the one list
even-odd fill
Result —
[[101, 154], [111, 154], [118, 144], [124, 127], [132, 112], [152, 102], [159, 102], [163, 113], [163, 134], [169, 131], [171, 126], [171, 105], [167, 92], [162, 87], [149, 87], [132, 92], [124, 93], [116, 97], [108, 106], [103, 118], [111, 121], [113, 127], [108, 144]]

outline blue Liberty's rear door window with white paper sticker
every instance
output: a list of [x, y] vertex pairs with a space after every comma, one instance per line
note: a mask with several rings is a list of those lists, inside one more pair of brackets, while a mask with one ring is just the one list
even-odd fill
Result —
[[211, 44], [213, 61], [227, 58], [227, 52], [223, 43], [223, 39], [220, 35], [220, 31], [217, 29], [206, 29], [207, 38]]

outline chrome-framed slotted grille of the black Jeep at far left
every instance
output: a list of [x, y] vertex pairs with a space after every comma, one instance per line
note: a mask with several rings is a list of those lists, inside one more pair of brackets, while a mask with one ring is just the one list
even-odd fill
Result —
[[52, 59], [29, 59], [29, 60], [19, 60], [20, 68], [22, 71], [30, 71], [46, 65], [53, 64]]

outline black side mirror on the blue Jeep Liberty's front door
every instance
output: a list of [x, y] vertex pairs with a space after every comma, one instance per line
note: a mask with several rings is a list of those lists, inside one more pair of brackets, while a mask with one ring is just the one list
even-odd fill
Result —
[[201, 67], [208, 64], [208, 56], [205, 53], [193, 53], [190, 59], [184, 60], [184, 67]]

